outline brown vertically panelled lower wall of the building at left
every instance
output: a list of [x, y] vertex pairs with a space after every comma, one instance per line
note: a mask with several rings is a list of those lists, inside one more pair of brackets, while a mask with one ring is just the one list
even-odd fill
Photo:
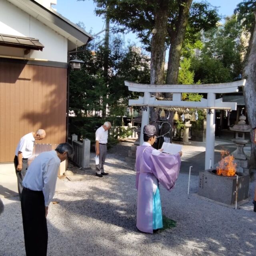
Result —
[[20, 138], [42, 128], [41, 143], [66, 140], [66, 68], [0, 60], [0, 162], [12, 162]]

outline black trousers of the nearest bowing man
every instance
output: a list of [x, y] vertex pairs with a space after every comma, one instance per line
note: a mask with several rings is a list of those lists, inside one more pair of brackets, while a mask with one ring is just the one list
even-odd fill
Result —
[[23, 188], [21, 211], [26, 256], [46, 256], [48, 230], [43, 192]]

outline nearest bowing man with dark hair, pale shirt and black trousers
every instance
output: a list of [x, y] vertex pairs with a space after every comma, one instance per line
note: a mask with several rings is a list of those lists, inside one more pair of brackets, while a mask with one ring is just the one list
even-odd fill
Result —
[[55, 193], [60, 162], [73, 156], [72, 146], [61, 143], [55, 150], [41, 153], [28, 167], [21, 194], [26, 256], [47, 254], [48, 206]]

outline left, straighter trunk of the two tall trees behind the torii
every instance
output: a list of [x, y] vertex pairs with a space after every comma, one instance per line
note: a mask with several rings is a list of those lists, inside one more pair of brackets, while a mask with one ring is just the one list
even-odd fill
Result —
[[[150, 84], [164, 84], [165, 40], [167, 36], [168, 0], [158, 1], [159, 8], [154, 14], [154, 33], [151, 42]], [[162, 94], [156, 93], [156, 96]], [[158, 113], [152, 108], [150, 120], [158, 120]]]

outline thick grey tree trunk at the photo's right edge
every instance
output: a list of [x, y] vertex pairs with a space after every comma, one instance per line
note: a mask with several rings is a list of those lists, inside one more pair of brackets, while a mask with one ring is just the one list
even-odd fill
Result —
[[[252, 128], [256, 127], [256, 12], [254, 12], [254, 28], [250, 37], [248, 48], [248, 57], [244, 67], [243, 77], [246, 79], [244, 86], [244, 98], [248, 121]], [[253, 133], [251, 132], [251, 157], [250, 169], [256, 169], [256, 143], [253, 142]]]

